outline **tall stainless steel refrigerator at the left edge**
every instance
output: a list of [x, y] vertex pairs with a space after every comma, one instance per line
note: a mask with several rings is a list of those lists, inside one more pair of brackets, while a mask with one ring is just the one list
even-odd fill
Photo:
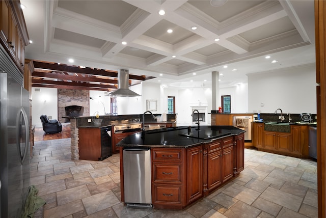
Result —
[[8, 68], [3, 61], [0, 63], [0, 214], [21, 217], [30, 186], [30, 98], [29, 92], [17, 82], [17, 73], [3, 69]]

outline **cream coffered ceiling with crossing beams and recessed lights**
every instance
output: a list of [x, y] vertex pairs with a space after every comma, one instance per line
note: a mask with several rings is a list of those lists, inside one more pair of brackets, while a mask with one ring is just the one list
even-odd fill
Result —
[[33, 40], [25, 56], [36, 61], [72, 58], [73, 65], [129, 69], [176, 87], [189, 79], [203, 86], [211, 71], [223, 73], [223, 87], [246, 83], [247, 73], [315, 62], [314, 1], [20, 2]]

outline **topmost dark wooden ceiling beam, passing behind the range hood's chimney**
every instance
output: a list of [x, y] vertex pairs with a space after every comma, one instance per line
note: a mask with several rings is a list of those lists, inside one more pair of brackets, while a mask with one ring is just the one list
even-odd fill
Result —
[[[67, 65], [63, 65], [63, 64], [59, 65], [59, 64], [51, 64], [51, 63], [38, 62], [38, 61], [33, 61], [33, 64], [34, 64], [34, 68], [39, 68], [39, 69], [44, 69], [44, 70], [118, 77], [117, 71], [109, 71], [109, 70], [102, 70], [102, 69], [96, 70], [96, 69], [91, 69], [91, 68], [79, 68], [79, 67], [67, 66]], [[129, 79], [142, 80], [142, 81], [146, 80], [146, 78], [144, 76], [131, 75], [131, 74], [129, 74]]]

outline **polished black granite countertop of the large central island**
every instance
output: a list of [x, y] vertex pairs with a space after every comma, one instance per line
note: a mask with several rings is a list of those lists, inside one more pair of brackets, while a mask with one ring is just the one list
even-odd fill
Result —
[[128, 135], [117, 146], [187, 148], [245, 132], [233, 126], [188, 126], [148, 130]]

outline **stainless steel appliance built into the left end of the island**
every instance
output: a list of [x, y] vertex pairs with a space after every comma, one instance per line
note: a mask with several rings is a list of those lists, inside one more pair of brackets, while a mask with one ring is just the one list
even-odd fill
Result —
[[124, 202], [129, 206], [151, 207], [151, 151], [123, 150]]

